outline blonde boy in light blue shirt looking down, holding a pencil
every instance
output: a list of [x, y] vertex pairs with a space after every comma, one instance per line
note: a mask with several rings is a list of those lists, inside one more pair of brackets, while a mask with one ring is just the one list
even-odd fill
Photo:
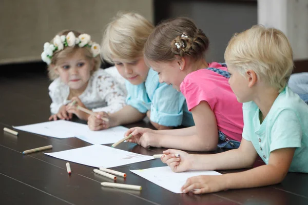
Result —
[[[101, 55], [114, 64], [126, 79], [126, 106], [118, 112], [94, 113], [88, 118], [91, 130], [150, 119], [156, 129], [193, 126], [184, 96], [172, 86], [159, 83], [158, 73], [146, 65], [143, 49], [153, 25], [137, 13], [120, 13], [108, 25], [102, 40]], [[109, 121], [104, 121], [101, 117]]]

